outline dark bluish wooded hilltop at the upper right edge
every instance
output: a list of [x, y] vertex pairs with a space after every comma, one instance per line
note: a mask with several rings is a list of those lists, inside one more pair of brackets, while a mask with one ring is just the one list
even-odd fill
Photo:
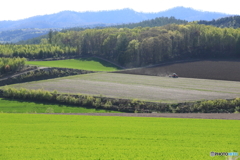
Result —
[[212, 25], [221, 28], [240, 28], [240, 16], [231, 16], [212, 21], [199, 21], [198, 24]]

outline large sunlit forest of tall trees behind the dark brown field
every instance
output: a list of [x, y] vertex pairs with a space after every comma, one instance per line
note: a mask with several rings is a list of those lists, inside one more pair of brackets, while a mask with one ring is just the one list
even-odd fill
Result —
[[97, 55], [127, 67], [181, 58], [240, 56], [240, 29], [197, 23], [162, 27], [87, 29], [57, 33], [51, 43], [77, 47], [81, 55]]

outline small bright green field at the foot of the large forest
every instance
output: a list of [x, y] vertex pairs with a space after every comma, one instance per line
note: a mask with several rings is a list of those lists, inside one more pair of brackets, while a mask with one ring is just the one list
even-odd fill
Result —
[[91, 71], [116, 71], [118, 67], [98, 58], [80, 58], [57, 61], [27, 61], [28, 65], [44, 67], [73, 68]]

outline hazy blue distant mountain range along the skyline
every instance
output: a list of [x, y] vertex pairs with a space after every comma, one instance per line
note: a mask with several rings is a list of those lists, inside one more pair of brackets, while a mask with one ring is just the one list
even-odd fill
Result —
[[158, 13], [136, 12], [132, 9], [121, 9], [99, 12], [62, 11], [56, 14], [34, 16], [17, 21], [0, 21], [0, 31], [24, 28], [70, 28], [96, 24], [116, 25], [136, 23], [157, 17], [175, 17], [176, 19], [196, 21], [212, 20], [229, 16], [223, 13], [202, 12], [191, 8], [176, 7]]

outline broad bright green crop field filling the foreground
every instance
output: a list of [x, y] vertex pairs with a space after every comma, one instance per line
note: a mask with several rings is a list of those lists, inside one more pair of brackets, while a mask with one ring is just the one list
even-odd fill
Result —
[[223, 160], [239, 120], [0, 113], [0, 159]]

